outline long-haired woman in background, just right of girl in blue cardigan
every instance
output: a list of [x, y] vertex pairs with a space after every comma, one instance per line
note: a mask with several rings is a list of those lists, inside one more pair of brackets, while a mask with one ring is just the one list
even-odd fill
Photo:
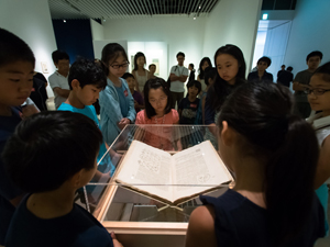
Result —
[[143, 53], [136, 53], [134, 56], [134, 69], [132, 71], [133, 76], [136, 78], [139, 87], [136, 87], [138, 92], [143, 93], [143, 88], [145, 82], [150, 79], [150, 72], [144, 68], [145, 56]]

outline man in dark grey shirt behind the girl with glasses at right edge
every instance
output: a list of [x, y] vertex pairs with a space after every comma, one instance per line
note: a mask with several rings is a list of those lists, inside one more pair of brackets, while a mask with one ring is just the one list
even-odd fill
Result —
[[295, 90], [295, 108], [294, 113], [307, 119], [310, 115], [310, 105], [307, 100], [307, 94], [304, 93], [304, 90], [308, 88], [310, 77], [315, 70], [319, 67], [322, 60], [323, 54], [319, 50], [311, 52], [306, 57], [306, 64], [308, 69], [298, 72], [294, 79]]

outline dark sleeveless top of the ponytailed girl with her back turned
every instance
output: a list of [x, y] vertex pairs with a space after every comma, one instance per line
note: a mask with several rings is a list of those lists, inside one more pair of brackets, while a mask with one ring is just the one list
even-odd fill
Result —
[[[205, 205], [215, 210], [215, 232], [220, 247], [268, 247], [273, 246], [266, 227], [267, 210], [254, 204], [234, 190], [228, 190], [219, 198], [200, 195]], [[314, 198], [312, 216], [299, 237], [284, 246], [312, 247], [316, 239], [324, 236], [324, 213], [317, 198]]]

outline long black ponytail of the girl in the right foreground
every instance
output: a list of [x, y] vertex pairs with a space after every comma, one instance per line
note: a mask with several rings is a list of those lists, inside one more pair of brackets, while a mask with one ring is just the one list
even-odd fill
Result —
[[318, 161], [315, 131], [302, 119], [287, 117], [283, 144], [266, 167], [265, 199], [273, 243], [285, 243], [306, 226], [314, 197]]

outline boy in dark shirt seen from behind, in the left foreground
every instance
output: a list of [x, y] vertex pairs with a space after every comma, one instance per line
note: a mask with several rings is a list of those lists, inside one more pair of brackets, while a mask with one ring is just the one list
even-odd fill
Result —
[[[84, 135], [81, 135], [84, 133]], [[102, 134], [89, 117], [42, 112], [18, 127], [3, 151], [12, 181], [29, 194], [15, 211], [7, 247], [118, 246], [107, 229], [74, 203], [97, 169]]]

